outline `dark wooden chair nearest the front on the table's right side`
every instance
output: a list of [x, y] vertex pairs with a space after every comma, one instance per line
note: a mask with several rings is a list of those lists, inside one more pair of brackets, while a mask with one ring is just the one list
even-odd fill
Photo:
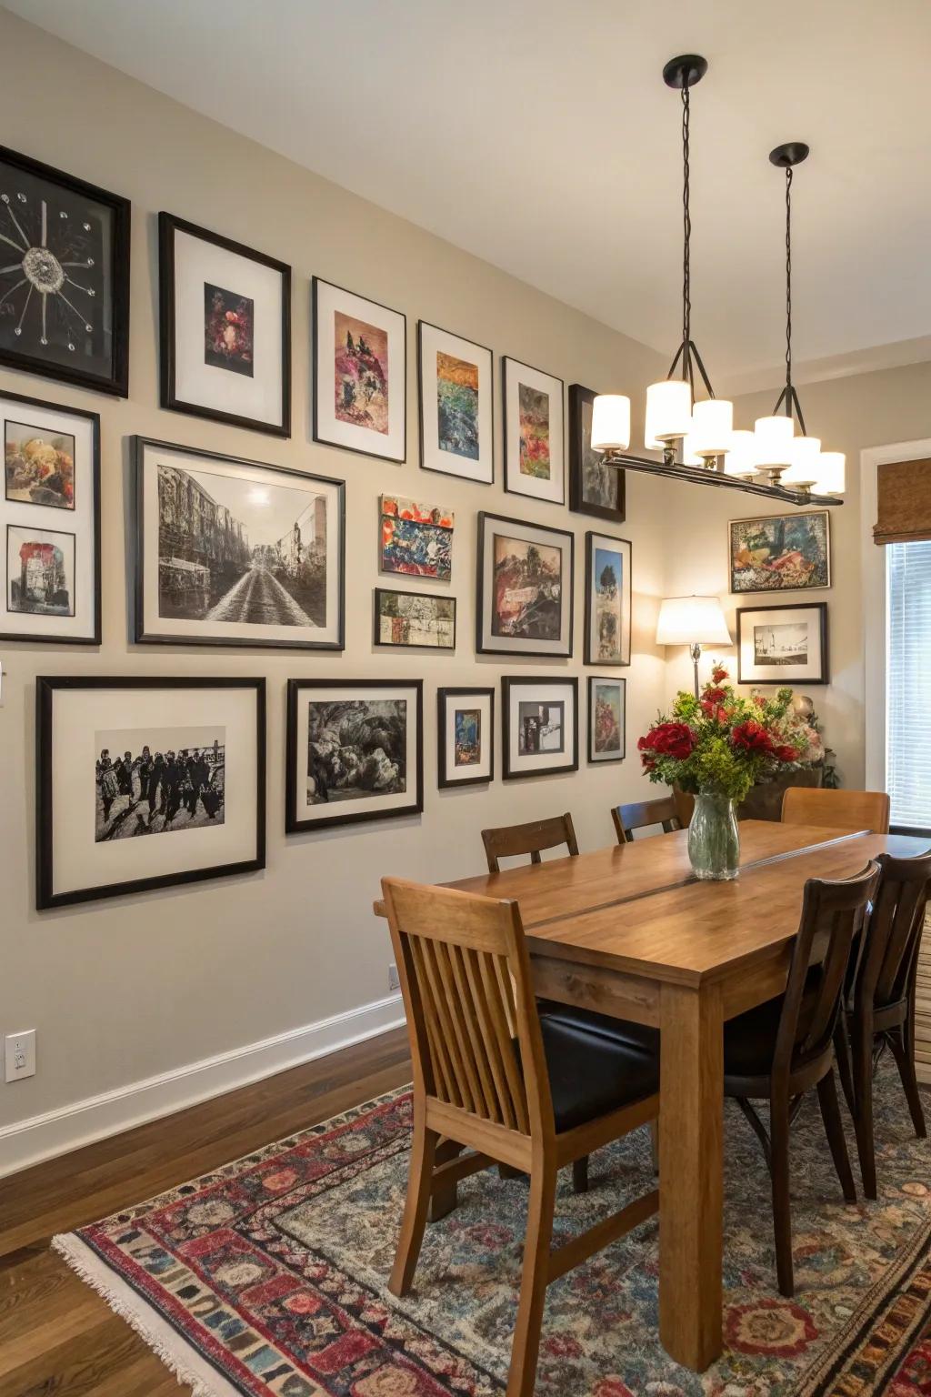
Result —
[[[818, 1088], [828, 1144], [849, 1203], [857, 1197], [835, 1085], [833, 1038], [854, 937], [879, 880], [879, 865], [843, 882], [808, 879], [786, 993], [724, 1024], [724, 1095], [754, 1127], [772, 1176], [776, 1274], [794, 1294], [789, 1204], [789, 1127], [804, 1094]], [[824, 958], [822, 958], [824, 951]], [[769, 1101], [769, 1133], [751, 1106]]]

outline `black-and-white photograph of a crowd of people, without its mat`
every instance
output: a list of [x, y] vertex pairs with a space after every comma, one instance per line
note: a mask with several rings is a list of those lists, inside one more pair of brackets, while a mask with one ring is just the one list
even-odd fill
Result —
[[98, 844], [223, 823], [223, 728], [116, 728], [94, 745]]

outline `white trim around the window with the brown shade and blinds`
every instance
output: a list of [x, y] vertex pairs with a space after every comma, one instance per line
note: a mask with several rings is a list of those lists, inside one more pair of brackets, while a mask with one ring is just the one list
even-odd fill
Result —
[[931, 439], [870, 446], [860, 453], [860, 539], [863, 564], [863, 654], [867, 789], [886, 789], [886, 552], [872, 542], [877, 467], [931, 457]]

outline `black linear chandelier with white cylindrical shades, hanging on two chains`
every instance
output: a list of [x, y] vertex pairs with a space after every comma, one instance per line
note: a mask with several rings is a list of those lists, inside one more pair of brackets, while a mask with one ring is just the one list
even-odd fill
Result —
[[[844, 458], [822, 451], [821, 440], [805, 434], [798, 394], [791, 383], [791, 170], [808, 155], [803, 142], [780, 145], [770, 154], [786, 170], [786, 387], [769, 418], [755, 429], [734, 430], [734, 407], [716, 398], [695, 341], [691, 300], [691, 187], [690, 124], [691, 88], [708, 71], [697, 53], [671, 59], [663, 81], [681, 91], [683, 101], [683, 338], [666, 379], [646, 390], [643, 446], [662, 451], [663, 460], [630, 455], [631, 400], [624, 394], [599, 394], [592, 407], [592, 448], [604, 465], [648, 475], [664, 475], [690, 485], [712, 485], [764, 495], [789, 504], [843, 504]], [[706, 397], [695, 400], [695, 379]], [[779, 409], [784, 408], [783, 415]], [[796, 418], [801, 436], [796, 437]], [[819, 490], [821, 493], [815, 493]]]

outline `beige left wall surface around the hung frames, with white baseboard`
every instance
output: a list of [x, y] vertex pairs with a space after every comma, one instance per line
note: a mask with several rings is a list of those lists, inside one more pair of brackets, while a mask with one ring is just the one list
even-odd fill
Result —
[[[502, 490], [500, 356], [509, 355], [596, 390], [623, 386], [635, 404], [664, 362], [456, 250], [430, 233], [208, 122], [0, 10], [3, 142], [133, 201], [130, 397], [68, 388], [0, 370], [0, 390], [100, 414], [103, 643], [6, 644], [0, 705], [3, 971], [0, 1034], [38, 1031], [38, 1073], [0, 1084], [0, 1172], [89, 1133], [234, 1085], [321, 1046], [399, 1017], [388, 999], [387, 929], [371, 914], [391, 872], [437, 880], [483, 865], [479, 831], [571, 810], [582, 848], [611, 840], [609, 807], [648, 787], [636, 736], [667, 692], [653, 644], [657, 598], [680, 548], [670, 493], [648, 478], [627, 485], [617, 528], [563, 506]], [[36, 87], [42, 99], [36, 101]], [[289, 440], [159, 408], [158, 212], [258, 249], [293, 271], [293, 422]], [[568, 253], [567, 253], [568, 256]], [[408, 316], [408, 460], [403, 465], [311, 440], [310, 278]], [[494, 349], [496, 483], [419, 468], [416, 323]], [[670, 327], [673, 332], [673, 327]], [[642, 423], [635, 422], [635, 434]], [[141, 433], [314, 471], [346, 482], [346, 648], [314, 654], [134, 645], [130, 634], [128, 439]], [[378, 497], [398, 492], [455, 511], [454, 655], [375, 650]], [[683, 521], [695, 502], [684, 502]], [[569, 661], [475, 654], [476, 515], [491, 510], [575, 534], [575, 650]], [[592, 767], [585, 724], [578, 774], [462, 791], [437, 788], [435, 690], [496, 685], [502, 675], [578, 675], [582, 664], [585, 532], [632, 543], [632, 662], [627, 678], [628, 757]], [[715, 539], [715, 548], [717, 543]], [[406, 584], [403, 584], [406, 585]], [[424, 590], [430, 590], [426, 587]], [[433, 584], [433, 591], [437, 591]], [[691, 590], [691, 587], [690, 587]], [[268, 862], [264, 872], [36, 912], [33, 703], [36, 675], [265, 676], [268, 683]], [[285, 686], [289, 678], [424, 680], [424, 810], [420, 816], [285, 837]], [[498, 726], [500, 736], [500, 726]], [[388, 1000], [388, 1003], [385, 1003]], [[374, 1006], [374, 1007], [373, 1007]], [[356, 1013], [359, 1010], [359, 1013]], [[346, 1016], [346, 1017], [339, 1017]], [[331, 1023], [334, 1020], [335, 1023]], [[324, 1024], [322, 1030], [314, 1025]], [[248, 1051], [258, 1045], [255, 1051]], [[137, 1090], [144, 1083], [144, 1090]]]

